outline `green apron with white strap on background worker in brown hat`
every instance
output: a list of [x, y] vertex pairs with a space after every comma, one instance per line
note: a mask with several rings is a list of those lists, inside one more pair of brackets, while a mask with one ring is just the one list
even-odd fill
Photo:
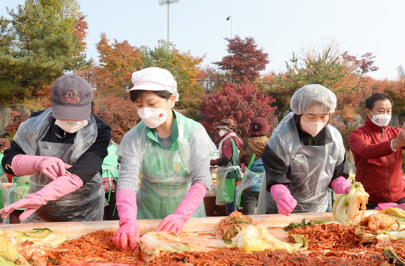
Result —
[[[239, 163], [239, 148], [233, 138], [230, 138], [229, 140], [232, 143], [231, 159], [229, 160], [228, 164], [220, 166], [217, 169], [217, 181], [220, 182], [218, 184], [217, 191], [217, 205], [223, 205], [227, 202], [233, 202], [235, 194], [235, 180], [236, 178], [241, 178], [241, 171], [239, 167], [237, 167]], [[224, 179], [223, 177], [225, 174], [226, 177]]]

